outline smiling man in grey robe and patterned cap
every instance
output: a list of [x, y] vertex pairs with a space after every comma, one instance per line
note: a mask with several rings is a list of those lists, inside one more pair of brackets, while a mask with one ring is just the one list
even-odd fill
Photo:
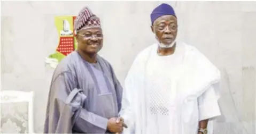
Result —
[[84, 7], [74, 22], [77, 50], [65, 57], [53, 74], [44, 133], [122, 132], [122, 87], [104, 58], [99, 18]]

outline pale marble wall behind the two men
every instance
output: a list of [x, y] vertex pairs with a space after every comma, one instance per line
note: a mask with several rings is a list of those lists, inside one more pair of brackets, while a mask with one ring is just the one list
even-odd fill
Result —
[[[43, 129], [55, 52], [56, 15], [76, 15], [83, 6], [97, 14], [104, 32], [100, 52], [121, 83], [136, 54], [154, 43], [150, 13], [161, 2], [33, 2], [1, 5], [1, 90], [34, 91], [35, 132]], [[195, 45], [222, 73], [215, 133], [255, 133], [256, 2], [166, 2], [174, 6], [179, 40]]]

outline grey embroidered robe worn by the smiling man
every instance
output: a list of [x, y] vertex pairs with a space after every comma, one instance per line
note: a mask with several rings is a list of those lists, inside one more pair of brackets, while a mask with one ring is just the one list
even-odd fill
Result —
[[44, 133], [108, 133], [107, 121], [118, 116], [121, 98], [110, 63], [97, 55], [91, 64], [75, 51], [53, 74]]

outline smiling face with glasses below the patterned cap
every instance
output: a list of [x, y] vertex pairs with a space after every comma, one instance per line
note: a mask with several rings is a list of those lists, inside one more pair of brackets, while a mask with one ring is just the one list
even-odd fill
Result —
[[76, 34], [77, 48], [88, 54], [96, 54], [103, 46], [101, 28], [81, 29]]

